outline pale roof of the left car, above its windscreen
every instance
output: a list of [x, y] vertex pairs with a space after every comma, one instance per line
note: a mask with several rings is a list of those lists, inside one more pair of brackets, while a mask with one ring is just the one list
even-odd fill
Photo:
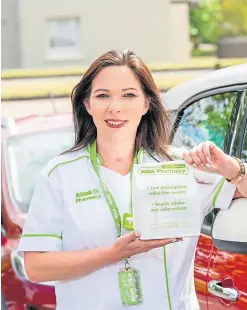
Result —
[[[14, 123], [12, 121], [10, 124], [11, 124], [10, 135], [19, 135], [38, 131], [71, 127], [72, 114], [64, 113], [64, 114], [48, 114], [48, 115], [31, 115], [23, 118], [17, 118], [15, 119]], [[5, 131], [5, 129], [3, 131]], [[6, 128], [6, 131], [8, 132], [8, 128]]]

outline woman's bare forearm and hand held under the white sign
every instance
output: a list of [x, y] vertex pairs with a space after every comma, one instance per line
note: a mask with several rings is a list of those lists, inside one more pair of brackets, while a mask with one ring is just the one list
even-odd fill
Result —
[[179, 239], [140, 240], [138, 233], [131, 232], [117, 238], [110, 248], [58, 252], [27, 251], [24, 252], [25, 270], [33, 282], [67, 281], [176, 240]]

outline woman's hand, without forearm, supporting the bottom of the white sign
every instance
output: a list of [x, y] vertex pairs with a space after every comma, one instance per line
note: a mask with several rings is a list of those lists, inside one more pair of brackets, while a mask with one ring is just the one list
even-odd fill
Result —
[[182, 238], [166, 238], [154, 240], [140, 240], [140, 234], [131, 232], [117, 238], [111, 250], [116, 261], [121, 261], [127, 257], [148, 252], [154, 248], [165, 246], [183, 240]]

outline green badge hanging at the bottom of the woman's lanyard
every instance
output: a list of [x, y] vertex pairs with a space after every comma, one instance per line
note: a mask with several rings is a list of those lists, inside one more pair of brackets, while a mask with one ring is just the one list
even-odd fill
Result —
[[139, 272], [132, 268], [124, 269], [118, 273], [118, 278], [123, 305], [131, 306], [142, 303]]

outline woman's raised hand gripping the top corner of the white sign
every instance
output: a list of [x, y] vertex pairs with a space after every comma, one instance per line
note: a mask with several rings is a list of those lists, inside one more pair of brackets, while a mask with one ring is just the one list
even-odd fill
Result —
[[[211, 141], [201, 143], [192, 150], [184, 152], [183, 159], [198, 170], [221, 175], [225, 174], [229, 161], [235, 161]], [[238, 165], [236, 165], [236, 174], [237, 169]]]

